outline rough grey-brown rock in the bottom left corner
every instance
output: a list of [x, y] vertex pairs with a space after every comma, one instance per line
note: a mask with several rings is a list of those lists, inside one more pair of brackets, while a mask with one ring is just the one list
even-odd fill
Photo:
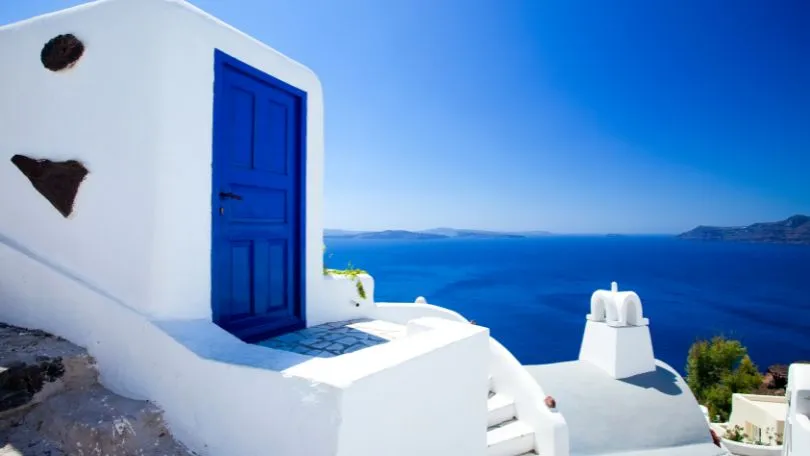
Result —
[[98, 383], [86, 351], [0, 324], [0, 456], [188, 456], [160, 409]]

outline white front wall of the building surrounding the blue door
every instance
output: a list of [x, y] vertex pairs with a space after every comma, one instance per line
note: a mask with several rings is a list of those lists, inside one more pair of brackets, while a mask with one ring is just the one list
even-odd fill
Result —
[[[161, 46], [156, 131], [158, 231], [150, 314], [210, 318], [211, 161], [214, 49], [307, 92], [306, 295], [307, 320], [317, 320], [323, 292], [323, 95], [305, 66], [181, 1], [146, 0]], [[178, 180], [182, 182], [178, 183]]]

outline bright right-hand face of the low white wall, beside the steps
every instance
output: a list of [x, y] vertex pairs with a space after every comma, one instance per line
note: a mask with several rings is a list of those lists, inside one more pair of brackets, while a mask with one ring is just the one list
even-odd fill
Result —
[[346, 391], [338, 456], [486, 454], [489, 331], [442, 320], [415, 323], [436, 329], [396, 342], [422, 347], [422, 356]]

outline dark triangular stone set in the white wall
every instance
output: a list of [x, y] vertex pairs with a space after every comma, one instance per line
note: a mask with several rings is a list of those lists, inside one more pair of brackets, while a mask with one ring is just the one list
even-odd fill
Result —
[[68, 217], [73, 212], [79, 184], [88, 173], [84, 165], [76, 160], [53, 162], [25, 155], [15, 155], [11, 162], [63, 216]]

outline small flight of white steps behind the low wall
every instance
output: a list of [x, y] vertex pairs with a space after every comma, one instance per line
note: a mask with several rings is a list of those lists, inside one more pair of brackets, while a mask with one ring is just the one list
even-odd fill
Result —
[[494, 391], [489, 378], [487, 399], [487, 456], [537, 455], [534, 430], [516, 417], [515, 402]]

